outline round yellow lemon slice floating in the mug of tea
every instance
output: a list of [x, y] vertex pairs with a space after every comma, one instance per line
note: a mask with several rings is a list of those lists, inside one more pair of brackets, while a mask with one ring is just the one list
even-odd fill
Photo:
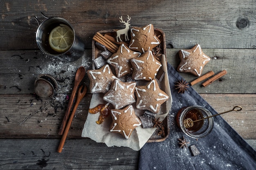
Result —
[[73, 44], [74, 33], [72, 29], [65, 25], [55, 27], [49, 35], [49, 44], [54, 51], [64, 53]]

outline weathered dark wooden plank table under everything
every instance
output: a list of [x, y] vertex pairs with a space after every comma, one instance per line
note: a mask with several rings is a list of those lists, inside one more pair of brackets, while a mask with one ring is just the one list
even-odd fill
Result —
[[[222, 117], [256, 148], [256, 3], [254, 0], [183, 1], [0, 1], [0, 169], [137, 169], [139, 152], [107, 147], [81, 137], [90, 98], [83, 98], [73, 119], [62, 153], [56, 149], [58, 128], [67, 107], [79, 66], [92, 66], [92, 37], [97, 31], [122, 29], [121, 15], [130, 15], [131, 26], [154, 24], [166, 35], [167, 60], [175, 68], [179, 49], [200, 44], [211, 61], [204, 73], [227, 75], [210, 86], [193, 86], [218, 112], [240, 105], [239, 113]], [[36, 45], [40, 21], [47, 16], [69, 20], [85, 41], [85, 53], [75, 62], [44, 55]], [[58, 82], [54, 104], [21, 126], [29, 114], [44, 107], [50, 98], [34, 95], [39, 74]], [[181, 75], [188, 82], [193, 75]], [[88, 76], [83, 84], [89, 85]], [[171, 137], [171, 135], [169, 136]]]

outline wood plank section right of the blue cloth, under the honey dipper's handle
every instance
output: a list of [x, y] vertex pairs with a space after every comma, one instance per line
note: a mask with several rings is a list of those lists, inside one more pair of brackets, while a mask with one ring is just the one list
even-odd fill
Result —
[[[256, 95], [255, 94], [201, 94], [218, 113], [241, 106], [239, 112], [221, 115], [229, 125], [245, 139], [256, 139]], [[246, 125], [245, 125], [246, 124]], [[243, 130], [242, 130], [243, 129]]]

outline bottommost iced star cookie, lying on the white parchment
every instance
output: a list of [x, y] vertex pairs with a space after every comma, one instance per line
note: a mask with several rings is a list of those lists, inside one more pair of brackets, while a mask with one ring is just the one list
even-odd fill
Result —
[[135, 115], [132, 105], [128, 105], [123, 109], [111, 109], [112, 123], [109, 131], [121, 134], [128, 139], [132, 131], [141, 125], [141, 121]]

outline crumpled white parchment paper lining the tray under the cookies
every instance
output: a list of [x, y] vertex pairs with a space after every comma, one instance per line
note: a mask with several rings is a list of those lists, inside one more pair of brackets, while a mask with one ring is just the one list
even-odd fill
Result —
[[[172, 106], [172, 97], [171, 97], [171, 89], [168, 79], [168, 71], [166, 66], [165, 56], [162, 55], [159, 57], [162, 63], [161, 69], [164, 70], [165, 75], [162, 82], [159, 83], [159, 87], [165, 91], [165, 93], [169, 96], [169, 99], [162, 104], [159, 113], [157, 113], [156, 118], [160, 117], [160, 120], [164, 120], [166, 115], [171, 110]], [[140, 82], [138, 82], [140, 83]], [[143, 82], [144, 83], [144, 82]], [[94, 108], [99, 104], [106, 104], [107, 102], [103, 100], [103, 93], [94, 93], [92, 95], [92, 99], [90, 102], [90, 108]], [[143, 115], [145, 110], [138, 110], [136, 108], [136, 104], [132, 104], [135, 109], [135, 113], [137, 117]], [[89, 137], [90, 139], [96, 142], [105, 143], [108, 147], [110, 146], [126, 146], [132, 148], [133, 150], [140, 150], [144, 144], [151, 137], [156, 128], [142, 128], [138, 126], [133, 130], [129, 139], [125, 139], [120, 134], [110, 132], [109, 126], [111, 124], [112, 118], [108, 116], [102, 124], [96, 124], [96, 121], [99, 119], [100, 113], [91, 114], [88, 113], [87, 119], [84, 124], [84, 128], [82, 131], [82, 137]]]

